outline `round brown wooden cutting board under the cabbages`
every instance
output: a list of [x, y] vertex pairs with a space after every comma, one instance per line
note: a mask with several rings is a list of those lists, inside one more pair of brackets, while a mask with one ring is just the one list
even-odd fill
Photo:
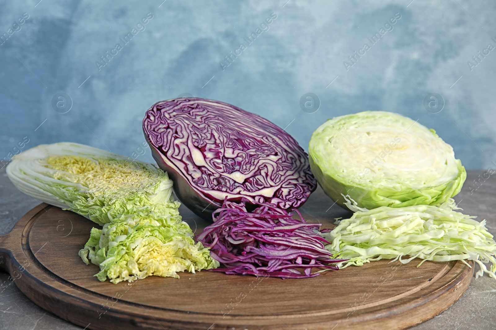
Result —
[[[350, 213], [329, 211], [329, 201], [319, 189], [301, 211], [332, 228], [333, 217]], [[181, 213], [196, 234], [208, 225], [187, 209]], [[420, 260], [381, 260], [310, 279], [201, 271], [112, 284], [99, 282], [98, 267], [77, 255], [95, 226], [42, 204], [0, 236], [0, 266], [10, 280], [45, 310], [86, 329], [407, 329], [451, 306], [473, 277], [461, 262], [417, 268]]]

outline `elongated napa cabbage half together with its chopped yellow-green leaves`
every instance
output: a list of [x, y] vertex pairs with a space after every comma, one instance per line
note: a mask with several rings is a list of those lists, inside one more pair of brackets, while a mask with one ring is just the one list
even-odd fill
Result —
[[7, 175], [21, 191], [74, 211], [93, 228], [81, 259], [100, 266], [100, 281], [216, 268], [182, 221], [173, 182], [156, 166], [78, 143], [42, 144], [14, 157]]

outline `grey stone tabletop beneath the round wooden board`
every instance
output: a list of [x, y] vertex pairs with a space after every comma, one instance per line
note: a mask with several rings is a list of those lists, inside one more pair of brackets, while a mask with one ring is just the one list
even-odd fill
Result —
[[[489, 173], [487, 171], [469, 171], [465, 186], [455, 197], [455, 200], [465, 213], [476, 215], [479, 220], [486, 219], [487, 228], [495, 235], [496, 173], [493, 175], [489, 175]], [[474, 180], [477, 181], [477, 184]], [[38, 205], [37, 200], [15, 189], [8, 180], [5, 170], [0, 171], [0, 235], [9, 233], [17, 220], [36, 205]], [[330, 208], [329, 215], [339, 217], [342, 216], [343, 212], [343, 209], [334, 205]], [[8, 274], [0, 270], [0, 283], [7, 281], [7, 278]], [[495, 307], [496, 281], [484, 276], [477, 280], [474, 279], [467, 292], [452, 307], [412, 329], [496, 329]], [[83, 328], [46, 312], [31, 302], [15, 284], [8, 285], [0, 293], [0, 330], [35, 329], [80, 330]]]

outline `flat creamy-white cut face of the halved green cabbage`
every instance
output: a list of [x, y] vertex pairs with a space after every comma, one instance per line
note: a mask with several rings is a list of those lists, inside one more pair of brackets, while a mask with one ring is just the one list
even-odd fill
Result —
[[327, 174], [398, 190], [438, 186], [458, 175], [453, 148], [425, 126], [389, 112], [357, 115], [327, 121], [310, 141]]

